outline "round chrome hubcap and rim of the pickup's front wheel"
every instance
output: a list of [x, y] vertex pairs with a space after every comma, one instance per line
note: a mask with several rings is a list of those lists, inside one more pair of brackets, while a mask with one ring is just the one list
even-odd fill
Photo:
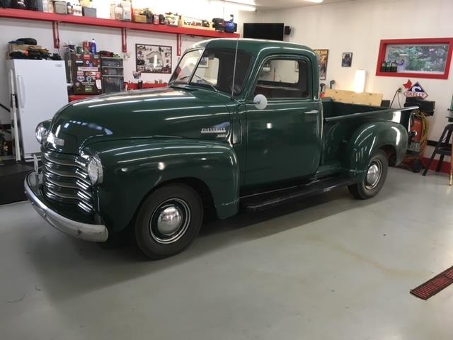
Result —
[[171, 198], [154, 210], [149, 220], [149, 233], [158, 243], [178, 241], [190, 224], [190, 209], [184, 200]]

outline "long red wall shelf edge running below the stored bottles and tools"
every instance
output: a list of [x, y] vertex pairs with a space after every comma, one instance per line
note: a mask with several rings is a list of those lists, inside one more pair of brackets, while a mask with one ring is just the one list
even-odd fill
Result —
[[57, 13], [40, 11], [25, 11], [23, 9], [0, 8], [0, 18], [15, 18], [24, 20], [50, 21], [56, 23], [74, 23], [76, 25], [127, 28], [130, 30], [146, 30], [157, 33], [195, 35], [208, 38], [239, 38], [237, 33], [224, 33], [217, 30], [203, 30], [200, 28], [185, 28], [168, 25], [154, 25], [151, 23], [133, 23], [130, 21], [118, 21], [88, 16], [71, 16]]

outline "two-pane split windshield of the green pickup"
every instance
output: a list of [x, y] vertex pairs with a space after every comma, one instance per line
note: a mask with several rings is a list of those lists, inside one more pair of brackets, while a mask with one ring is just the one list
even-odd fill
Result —
[[[235, 50], [193, 50], [176, 67], [170, 83], [196, 84], [231, 94]], [[240, 94], [251, 66], [251, 55], [238, 51], [234, 94]], [[196, 67], [196, 68], [195, 68]]]

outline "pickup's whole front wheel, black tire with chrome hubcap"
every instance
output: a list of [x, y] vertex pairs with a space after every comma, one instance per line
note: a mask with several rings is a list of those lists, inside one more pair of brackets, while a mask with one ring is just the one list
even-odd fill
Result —
[[137, 246], [151, 259], [173, 256], [193, 242], [202, 221], [202, 200], [193, 188], [179, 183], [162, 186], [149, 195], [137, 214]]

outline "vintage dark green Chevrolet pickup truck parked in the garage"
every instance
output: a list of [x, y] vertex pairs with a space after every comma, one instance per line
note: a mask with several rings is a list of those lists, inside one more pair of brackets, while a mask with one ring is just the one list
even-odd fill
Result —
[[40, 123], [42, 166], [25, 193], [62, 232], [133, 236], [160, 259], [185, 249], [207, 212], [225, 219], [338, 186], [375, 196], [406, 152], [400, 115], [321, 100], [308, 47], [202, 41], [168, 87], [76, 101]]

